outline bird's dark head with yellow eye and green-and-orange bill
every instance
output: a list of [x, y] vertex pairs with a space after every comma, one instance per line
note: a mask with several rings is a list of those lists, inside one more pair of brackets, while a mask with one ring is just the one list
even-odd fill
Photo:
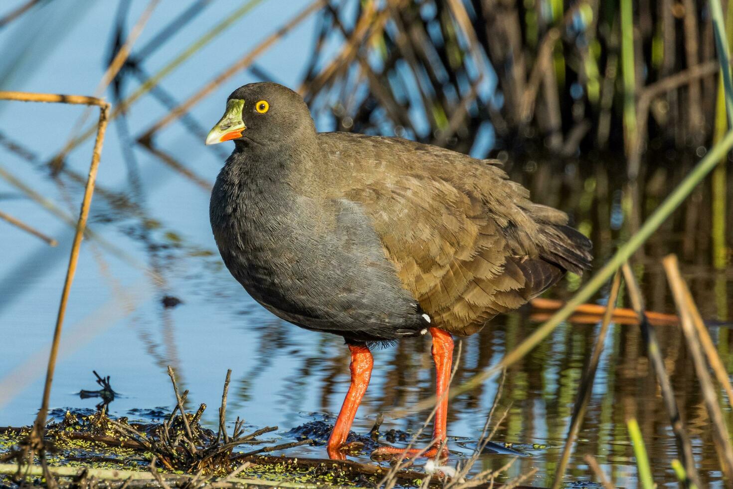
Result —
[[206, 144], [238, 140], [273, 145], [308, 133], [315, 133], [315, 128], [303, 98], [282, 85], [262, 82], [229, 95], [224, 117], [210, 130]]

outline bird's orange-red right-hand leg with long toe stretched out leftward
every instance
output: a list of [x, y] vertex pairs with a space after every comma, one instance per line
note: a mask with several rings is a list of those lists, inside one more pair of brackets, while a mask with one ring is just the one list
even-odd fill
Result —
[[[448, 386], [451, 380], [451, 367], [453, 364], [453, 338], [450, 333], [438, 328], [430, 328], [432, 336], [432, 359], [435, 361], [435, 397], [438, 398], [438, 407], [435, 409], [435, 425], [432, 429], [432, 446], [422, 457], [435, 457], [438, 455], [438, 447], [443, 445], [442, 457], [448, 457], [448, 448], [443, 443], [447, 436], [448, 424]], [[394, 446], [380, 446], [372, 457], [383, 458], [394, 455], [415, 457], [420, 449], [404, 450]]]

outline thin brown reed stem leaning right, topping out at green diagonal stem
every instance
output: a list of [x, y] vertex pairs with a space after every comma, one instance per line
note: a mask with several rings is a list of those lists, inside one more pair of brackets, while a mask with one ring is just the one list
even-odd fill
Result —
[[581, 386], [578, 389], [578, 398], [575, 400], [575, 405], [572, 408], [572, 416], [570, 418], [570, 428], [567, 430], [567, 438], [562, 448], [562, 455], [560, 457], [557, 468], [555, 469], [555, 478], [553, 479], [553, 489], [558, 489], [562, 484], [562, 479], [565, 475], [565, 469], [567, 468], [567, 462], [570, 460], [572, 455], [572, 447], [575, 444], [575, 439], [578, 438], [578, 430], [581, 428], [583, 422], [583, 416], [586, 413], [586, 407], [593, 391], [593, 383], [595, 380], [596, 370], [598, 369], [598, 362], [600, 361], [600, 354], [603, 351], [603, 345], [605, 344], [605, 337], [608, 334], [608, 325], [611, 323], [611, 317], [614, 315], [614, 308], [616, 307], [616, 301], [619, 298], [619, 289], [621, 288], [621, 271], [616, 271], [614, 275], [614, 282], [611, 284], [611, 293], [608, 295], [608, 305], [603, 315], [603, 322], [598, 331], [598, 338], [596, 339], [593, 347], [593, 353], [588, 364], [588, 369], [583, 374], [581, 380]]

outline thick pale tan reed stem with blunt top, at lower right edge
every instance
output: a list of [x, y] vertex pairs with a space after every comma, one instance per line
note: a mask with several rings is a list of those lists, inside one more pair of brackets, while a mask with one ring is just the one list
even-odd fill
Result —
[[692, 356], [695, 372], [700, 383], [702, 397], [707, 407], [707, 412], [712, 422], [712, 440], [715, 442], [715, 450], [718, 452], [718, 459], [723, 468], [723, 474], [729, 483], [733, 481], [733, 446], [729, 439], [728, 427], [726, 426], [721, 406], [718, 405], [718, 394], [715, 392], [715, 386], [710, 378], [710, 372], [707, 371], [707, 362], [703, 353], [703, 348], [696, 334], [695, 326], [693, 326], [688, 301], [685, 298], [684, 280], [679, 273], [679, 263], [674, 254], [667, 255], [662, 260], [664, 271], [667, 274], [667, 281], [674, 296], [674, 302], [677, 304], [679, 315], [682, 318], [682, 333], [685, 334], [688, 350]]

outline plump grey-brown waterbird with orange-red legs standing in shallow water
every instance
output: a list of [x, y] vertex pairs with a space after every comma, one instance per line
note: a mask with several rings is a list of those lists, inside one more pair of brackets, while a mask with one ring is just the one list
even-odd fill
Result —
[[[371, 350], [430, 334], [435, 411], [426, 457], [445, 457], [454, 337], [591, 267], [592, 243], [535, 204], [496, 160], [399, 137], [316, 130], [301, 95], [272, 82], [229, 95], [206, 144], [234, 141], [210, 221], [229, 272], [274, 315], [336, 334], [350, 387], [326, 444], [345, 444]], [[373, 456], [410, 457], [392, 446]]]

